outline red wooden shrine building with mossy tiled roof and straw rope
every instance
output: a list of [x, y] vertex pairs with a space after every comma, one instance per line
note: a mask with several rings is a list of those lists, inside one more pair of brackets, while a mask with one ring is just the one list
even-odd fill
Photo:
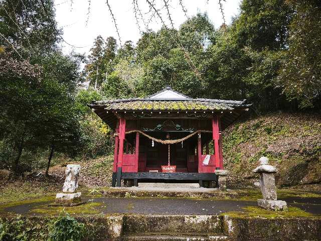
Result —
[[[250, 104], [191, 98], [167, 87], [145, 98], [89, 106], [115, 136], [112, 186], [138, 182], [217, 181], [223, 169], [221, 131]], [[212, 150], [210, 150], [210, 147]]]

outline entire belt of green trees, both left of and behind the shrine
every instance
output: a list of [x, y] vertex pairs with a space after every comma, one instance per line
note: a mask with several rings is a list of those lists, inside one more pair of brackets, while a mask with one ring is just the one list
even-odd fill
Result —
[[48, 170], [55, 154], [104, 155], [110, 130], [86, 104], [167, 85], [191, 97], [249, 99], [256, 112], [319, 109], [320, 21], [317, 0], [243, 0], [231, 25], [215, 29], [199, 13], [120, 48], [98, 36], [85, 57], [60, 50], [53, 0], [1, 1], [0, 168]]

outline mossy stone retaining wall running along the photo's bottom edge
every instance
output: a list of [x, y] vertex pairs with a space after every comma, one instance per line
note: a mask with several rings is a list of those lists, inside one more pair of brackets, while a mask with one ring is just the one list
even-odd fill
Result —
[[[252, 209], [248, 211], [253, 212]], [[26, 240], [46, 240], [53, 216], [7, 216], [0, 219], [6, 232]], [[241, 215], [75, 215], [86, 227], [84, 240], [320, 240], [321, 218], [252, 217]], [[134, 237], [145, 239], [135, 239]], [[130, 237], [131, 239], [128, 239]], [[163, 236], [164, 237], [164, 236]], [[28, 239], [29, 238], [29, 239]], [[152, 239], [154, 238], [154, 239]], [[181, 239], [178, 239], [181, 238]], [[191, 238], [192, 239], [192, 238]], [[183, 239], [184, 240], [184, 239]]]

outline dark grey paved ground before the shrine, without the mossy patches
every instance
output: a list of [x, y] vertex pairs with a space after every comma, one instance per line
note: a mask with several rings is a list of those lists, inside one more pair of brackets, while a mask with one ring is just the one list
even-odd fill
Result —
[[[288, 206], [299, 207], [307, 212], [321, 215], [321, 198], [285, 198]], [[188, 199], [188, 198], [95, 198], [105, 206], [103, 213], [141, 214], [220, 214], [227, 211], [242, 211], [242, 207], [256, 206], [255, 201]], [[6, 208], [5, 212], [28, 213], [37, 205], [22, 204]]]

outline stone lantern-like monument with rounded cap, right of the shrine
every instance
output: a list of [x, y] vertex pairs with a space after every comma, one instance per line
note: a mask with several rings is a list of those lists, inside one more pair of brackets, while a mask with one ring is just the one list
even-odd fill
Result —
[[257, 204], [260, 207], [269, 210], [286, 210], [286, 202], [276, 200], [276, 186], [274, 174], [277, 169], [271, 165], [268, 165], [268, 158], [261, 157], [259, 159], [260, 166], [253, 170], [254, 173], [260, 174], [260, 188], [263, 195], [263, 199], [258, 199]]

